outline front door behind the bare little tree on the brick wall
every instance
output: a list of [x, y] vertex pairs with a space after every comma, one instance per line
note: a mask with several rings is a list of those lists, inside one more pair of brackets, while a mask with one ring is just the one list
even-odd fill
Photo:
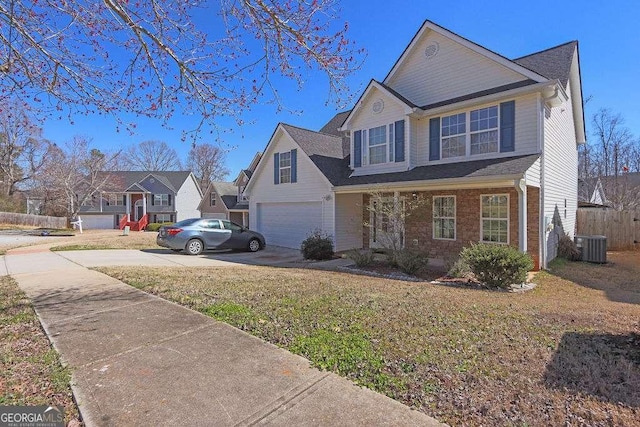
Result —
[[393, 197], [371, 200], [369, 207], [369, 247], [404, 247], [404, 201]]

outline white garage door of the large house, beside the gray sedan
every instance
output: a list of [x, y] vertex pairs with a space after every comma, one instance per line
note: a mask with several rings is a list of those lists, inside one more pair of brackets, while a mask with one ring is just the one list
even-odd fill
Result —
[[267, 245], [300, 249], [309, 233], [322, 227], [322, 203], [258, 203], [258, 230]]

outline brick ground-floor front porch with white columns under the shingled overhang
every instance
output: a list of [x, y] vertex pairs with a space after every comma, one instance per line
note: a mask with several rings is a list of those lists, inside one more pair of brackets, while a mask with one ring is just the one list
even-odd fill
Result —
[[362, 224], [362, 248], [413, 249], [435, 265], [450, 265], [471, 243], [508, 244], [529, 253], [539, 269], [540, 190], [518, 184], [337, 193], [336, 235], [346, 229], [339, 212], [351, 211], [351, 222]]

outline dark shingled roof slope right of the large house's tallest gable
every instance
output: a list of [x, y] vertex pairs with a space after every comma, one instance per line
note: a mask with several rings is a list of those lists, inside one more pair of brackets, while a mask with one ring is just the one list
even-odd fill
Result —
[[558, 79], [562, 86], [566, 88], [571, 74], [571, 62], [577, 46], [578, 42], [573, 40], [516, 58], [513, 62], [533, 70], [549, 80]]

